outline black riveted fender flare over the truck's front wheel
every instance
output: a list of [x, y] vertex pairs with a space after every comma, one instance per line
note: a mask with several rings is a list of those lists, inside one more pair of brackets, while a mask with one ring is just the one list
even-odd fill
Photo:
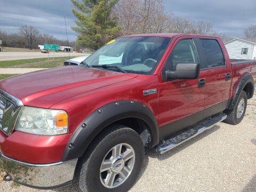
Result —
[[98, 108], [79, 124], [69, 138], [62, 155], [62, 162], [81, 157], [93, 139], [108, 125], [120, 119], [140, 118], [149, 127], [151, 132], [151, 146], [159, 142], [159, 130], [155, 115], [143, 103], [132, 100], [121, 100], [108, 103]]

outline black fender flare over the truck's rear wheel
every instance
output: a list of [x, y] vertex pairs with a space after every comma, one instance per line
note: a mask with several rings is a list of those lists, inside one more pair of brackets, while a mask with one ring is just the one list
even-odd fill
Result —
[[252, 93], [250, 95], [250, 98], [253, 96], [253, 92], [254, 92], [254, 79], [252, 77], [251, 74], [245, 74], [240, 81], [238, 82], [237, 86], [236, 86], [236, 91], [234, 93], [234, 97], [231, 99], [230, 103], [229, 103], [229, 107], [228, 109], [233, 109], [237, 102], [238, 99], [244, 89], [244, 87], [248, 84], [251, 83], [252, 84]]

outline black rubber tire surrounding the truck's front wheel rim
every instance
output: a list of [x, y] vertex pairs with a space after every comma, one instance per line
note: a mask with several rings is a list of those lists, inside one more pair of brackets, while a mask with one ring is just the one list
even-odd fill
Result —
[[[107, 188], [100, 180], [100, 167], [108, 151], [120, 143], [132, 146], [135, 152], [133, 169], [127, 179], [115, 188]], [[140, 135], [129, 127], [123, 125], [112, 125], [108, 131], [103, 132], [90, 146], [90, 149], [78, 161], [73, 190], [77, 186], [83, 192], [122, 192], [129, 190], [141, 171], [144, 160], [144, 146]]]

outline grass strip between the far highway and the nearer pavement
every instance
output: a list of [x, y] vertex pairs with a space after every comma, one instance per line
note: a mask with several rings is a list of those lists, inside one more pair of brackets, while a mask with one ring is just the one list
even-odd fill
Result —
[[[70, 57], [74, 58], [74, 57]], [[0, 61], [0, 68], [52, 68], [63, 66], [63, 62], [69, 57], [20, 59], [12, 61]]]

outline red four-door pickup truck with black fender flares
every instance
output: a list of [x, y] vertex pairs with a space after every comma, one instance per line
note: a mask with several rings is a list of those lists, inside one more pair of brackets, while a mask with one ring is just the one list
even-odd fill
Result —
[[219, 37], [117, 38], [78, 67], [0, 82], [5, 181], [50, 189], [127, 191], [145, 148], [164, 153], [226, 121], [253, 97], [256, 61], [230, 61]]

